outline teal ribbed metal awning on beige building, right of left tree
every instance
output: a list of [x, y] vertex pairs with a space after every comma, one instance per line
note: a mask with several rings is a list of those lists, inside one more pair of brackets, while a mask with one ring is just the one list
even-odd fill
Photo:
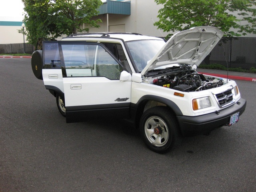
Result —
[[98, 8], [99, 15], [101, 14], [122, 14], [130, 15], [131, 14], [131, 2], [130, 1], [112, 1], [107, 0], [104, 2], [100, 8]]

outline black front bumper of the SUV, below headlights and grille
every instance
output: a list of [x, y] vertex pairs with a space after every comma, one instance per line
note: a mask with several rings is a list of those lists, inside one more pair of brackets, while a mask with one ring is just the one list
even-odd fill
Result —
[[200, 116], [177, 116], [182, 136], [208, 134], [212, 130], [227, 125], [230, 116], [239, 112], [242, 115], [246, 107], [246, 100], [240, 99], [234, 105], [219, 111]]

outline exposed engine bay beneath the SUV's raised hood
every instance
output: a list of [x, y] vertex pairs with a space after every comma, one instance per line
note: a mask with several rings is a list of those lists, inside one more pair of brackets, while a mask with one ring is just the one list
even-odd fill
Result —
[[208, 77], [198, 74], [190, 65], [173, 66], [166, 69], [151, 70], [146, 74], [150, 84], [171, 88], [182, 92], [202, 91], [220, 87], [222, 78]]

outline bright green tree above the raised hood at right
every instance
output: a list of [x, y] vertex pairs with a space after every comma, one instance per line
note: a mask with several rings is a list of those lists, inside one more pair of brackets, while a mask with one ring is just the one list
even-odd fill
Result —
[[[222, 30], [224, 36], [256, 34], [255, 0], [155, 0], [155, 2], [164, 5], [164, 8], [158, 11], [159, 21], [154, 23], [164, 32], [182, 31], [196, 26], [214, 26]], [[232, 31], [233, 29], [237, 29], [237, 32]]]

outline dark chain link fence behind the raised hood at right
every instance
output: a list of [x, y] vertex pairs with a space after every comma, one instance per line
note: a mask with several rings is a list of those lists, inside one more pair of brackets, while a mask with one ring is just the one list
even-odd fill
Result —
[[202, 64], [256, 68], [256, 38], [222, 38]]

